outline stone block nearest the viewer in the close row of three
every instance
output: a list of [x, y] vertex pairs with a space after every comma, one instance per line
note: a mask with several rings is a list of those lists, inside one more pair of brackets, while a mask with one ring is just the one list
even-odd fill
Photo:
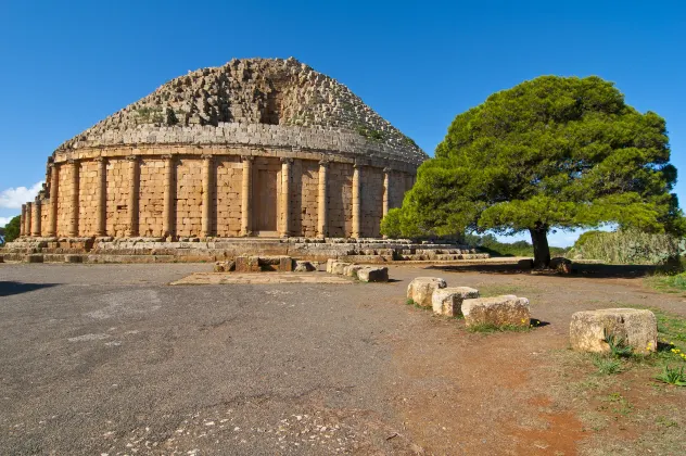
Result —
[[461, 311], [468, 327], [479, 325], [528, 327], [531, 320], [529, 300], [513, 294], [465, 300]]

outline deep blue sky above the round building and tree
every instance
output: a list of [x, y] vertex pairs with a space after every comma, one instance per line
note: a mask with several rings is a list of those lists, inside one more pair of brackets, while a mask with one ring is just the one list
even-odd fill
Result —
[[18, 213], [12, 195], [45, 178], [62, 141], [163, 83], [291, 55], [430, 154], [456, 114], [495, 91], [598, 75], [666, 118], [686, 204], [684, 1], [0, 0], [0, 217]]

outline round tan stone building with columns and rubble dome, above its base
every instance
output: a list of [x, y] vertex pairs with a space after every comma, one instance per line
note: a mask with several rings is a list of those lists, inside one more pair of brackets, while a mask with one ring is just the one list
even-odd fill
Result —
[[428, 156], [294, 59], [180, 76], [66, 141], [24, 237], [376, 238]]

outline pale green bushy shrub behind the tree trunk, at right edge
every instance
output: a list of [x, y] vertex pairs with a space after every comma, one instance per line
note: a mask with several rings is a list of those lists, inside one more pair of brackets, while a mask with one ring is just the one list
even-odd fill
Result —
[[626, 229], [585, 232], [576, 240], [570, 255], [612, 264], [662, 265], [674, 261], [685, 250], [686, 240], [674, 236]]

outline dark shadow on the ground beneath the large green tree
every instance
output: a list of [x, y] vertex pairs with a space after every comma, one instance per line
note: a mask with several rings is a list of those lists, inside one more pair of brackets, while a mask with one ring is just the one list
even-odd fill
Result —
[[559, 274], [555, 270], [522, 269], [518, 265], [434, 265], [427, 269], [445, 270], [449, 273], [481, 273], [481, 274], [525, 274], [530, 276], [563, 277], [567, 279], [635, 279], [652, 276], [663, 270], [661, 266], [652, 265], [605, 265], [574, 263], [571, 274]]

